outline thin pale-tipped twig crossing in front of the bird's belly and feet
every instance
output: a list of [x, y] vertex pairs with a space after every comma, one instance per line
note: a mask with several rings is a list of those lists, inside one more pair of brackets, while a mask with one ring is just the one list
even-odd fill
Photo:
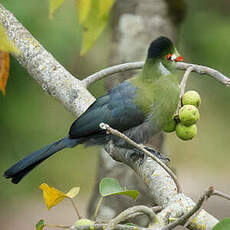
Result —
[[109, 134], [113, 134], [113, 135], [115, 135], [117, 137], [122, 138], [127, 143], [129, 143], [130, 145], [134, 146], [136, 149], [144, 152], [148, 157], [150, 157], [154, 161], [156, 161], [172, 177], [174, 183], [176, 184], [177, 192], [178, 193], [182, 192], [180, 183], [179, 183], [176, 175], [173, 173], [173, 171], [169, 167], [167, 167], [161, 160], [159, 160], [157, 157], [155, 157], [152, 153], [150, 153], [145, 148], [143, 148], [142, 145], [138, 145], [136, 142], [132, 141], [130, 138], [128, 138], [127, 136], [125, 136], [123, 133], [119, 132], [116, 129], [111, 128], [108, 124], [101, 123], [100, 124], [100, 128], [106, 130]]

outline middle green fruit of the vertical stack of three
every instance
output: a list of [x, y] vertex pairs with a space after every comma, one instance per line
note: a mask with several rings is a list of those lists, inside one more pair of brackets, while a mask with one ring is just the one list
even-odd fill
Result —
[[193, 125], [199, 118], [199, 110], [194, 105], [184, 105], [179, 110], [179, 119], [183, 125]]

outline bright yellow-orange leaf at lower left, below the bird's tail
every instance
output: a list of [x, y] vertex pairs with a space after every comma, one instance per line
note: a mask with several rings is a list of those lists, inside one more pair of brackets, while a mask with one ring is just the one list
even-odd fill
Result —
[[43, 190], [43, 197], [48, 210], [67, 197], [63, 192], [45, 183], [41, 184], [40, 188]]

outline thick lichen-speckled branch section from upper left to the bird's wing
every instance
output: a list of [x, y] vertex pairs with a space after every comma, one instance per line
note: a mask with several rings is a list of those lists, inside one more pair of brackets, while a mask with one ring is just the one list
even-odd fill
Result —
[[95, 99], [81, 81], [60, 65], [1, 4], [0, 23], [20, 51], [19, 55], [13, 55], [42, 89], [61, 102], [72, 114], [78, 116], [84, 112]]

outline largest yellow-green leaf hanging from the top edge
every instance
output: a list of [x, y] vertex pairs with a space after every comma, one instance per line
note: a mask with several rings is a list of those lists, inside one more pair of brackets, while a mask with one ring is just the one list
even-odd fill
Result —
[[82, 48], [81, 55], [84, 55], [93, 46], [100, 36], [108, 21], [109, 11], [114, 0], [93, 0], [87, 18], [82, 23]]

